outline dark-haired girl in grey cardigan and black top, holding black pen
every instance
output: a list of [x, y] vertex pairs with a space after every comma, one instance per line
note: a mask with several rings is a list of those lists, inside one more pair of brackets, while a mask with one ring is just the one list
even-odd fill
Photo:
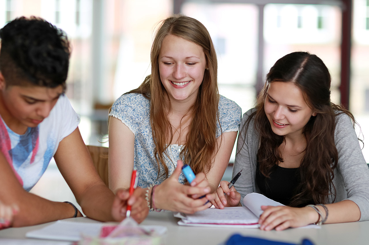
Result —
[[314, 54], [277, 60], [256, 108], [242, 118], [233, 169], [242, 175], [234, 188], [221, 183], [216, 207], [240, 205], [251, 192], [287, 205], [262, 206], [262, 230], [369, 219], [369, 169], [355, 120], [331, 102], [330, 85]]

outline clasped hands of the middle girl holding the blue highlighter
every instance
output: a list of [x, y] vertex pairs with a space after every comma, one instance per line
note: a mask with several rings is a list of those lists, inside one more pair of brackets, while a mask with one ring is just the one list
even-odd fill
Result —
[[[214, 199], [214, 194], [209, 194], [210, 187], [206, 184], [205, 174], [196, 175], [193, 180], [194, 184], [190, 186], [182, 185], [178, 182], [182, 166], [182, 161], [177, 161], [177, 167], [173, 174], [155, 188], [155, 207], [183, 213], [195, 213], [207, 209], [211, 206], [211, 203], [207, 202]], [[192, 196], [203, 195], [206, 196], [200, 199], [192, 198]]]

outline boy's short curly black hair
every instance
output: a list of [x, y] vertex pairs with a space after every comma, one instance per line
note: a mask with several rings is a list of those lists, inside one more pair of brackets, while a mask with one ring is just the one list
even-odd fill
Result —
[[0, 71], [6, 85], [55, 88], [68, 76], [70, 46], [65, 32], [38, 17], [20, 17], [0, 29]]

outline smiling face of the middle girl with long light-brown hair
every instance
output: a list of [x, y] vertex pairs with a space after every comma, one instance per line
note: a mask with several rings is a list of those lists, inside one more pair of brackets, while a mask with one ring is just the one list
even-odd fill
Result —
[[186, 39], [168, 35], [163, 39], [158, 62], [160, 79], [169, 99], [195, 103], [206, 67], [203, 49]]

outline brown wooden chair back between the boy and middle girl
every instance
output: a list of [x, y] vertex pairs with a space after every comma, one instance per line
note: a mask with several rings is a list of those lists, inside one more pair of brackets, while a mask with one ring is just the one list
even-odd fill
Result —
[[90, 152], [93, 164], [99, 173], [101, 180], [109, 187], [108, 176], [108, 152], [109, 148], [103, 146], [86, 145]]

